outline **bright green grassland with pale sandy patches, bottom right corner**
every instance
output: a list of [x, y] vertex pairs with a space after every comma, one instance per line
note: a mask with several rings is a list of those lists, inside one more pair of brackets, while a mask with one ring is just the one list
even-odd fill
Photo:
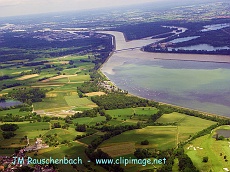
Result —
[[[228, 129], [229, 126], [221, 126], [218, 129]], [[217, 129], [216, 129], [217, 130]], [[218, 171], [224, 172], [223, 168], [230, 170], [230, 143], [227, 139], [216, 141], [215, 130], [212, 133], [193, 140], [184, 146], [185, 153], [193, 161], [194, 165], [200, 171]], [[226, 156], [228, 161], [225, 161]], [[208, 162], [202, 162], [203, 157], [208, 157]]]

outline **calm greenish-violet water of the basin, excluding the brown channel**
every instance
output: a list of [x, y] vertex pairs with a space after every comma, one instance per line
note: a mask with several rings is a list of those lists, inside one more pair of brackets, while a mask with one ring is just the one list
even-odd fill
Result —
[[230, 116], [230, 64], [125, 59], [113, 71], [107, 76], [132, 94]]

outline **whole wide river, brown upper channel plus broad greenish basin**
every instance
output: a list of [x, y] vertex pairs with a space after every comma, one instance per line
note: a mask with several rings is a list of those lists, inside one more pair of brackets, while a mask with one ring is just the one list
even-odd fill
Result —
[[[126, 42], [116, 50], [141, 47], [156, 39]], [[230, 56], [115, 51], [101, 71], [119, 88], [144, 98], [230, 117]]]

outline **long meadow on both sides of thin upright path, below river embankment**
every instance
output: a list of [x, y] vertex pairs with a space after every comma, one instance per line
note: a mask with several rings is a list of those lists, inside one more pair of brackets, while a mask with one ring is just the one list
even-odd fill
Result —
[[[127, 109], [127, 112], [131, 112], [131, 110], [132, 109]], [[138, 108], [138, 110], [142, 112], [142, 108]], [[127, 113], [123, 112], [123, 115], [125, 114]], [[116, 121], [114, 121], [113, 125], [118, 125], [118, 123], [115, 122]], [[143, 129], [126, 131], [118, 136], [106, 140], [102, 145], [100, 145], [100, 148], [102, 148], [102, 150], [105, 149], [105, 151], [112, 157], [117, 156], [117, 154], [119, 154], [118, 152], [122, 155], [126, 155], [126, 153], [132, 154], [136, 148], [155, 148], [159, 150], [166, 150], [168, 148], [176, 147], [178, 143], [189, 139], [190, 135], [192, 136], [198, 131], [215, 124], [215, 122], [212, 121], [176, 112], [164, 114], [156, 122], [165, 124], [176, 123], [176, 125], [147, 126]], [[141, 141], [146, 139], [149, 141], [149, 145], [141, 145]], [[123, 145], [121, 150], [120, 145]], [[129, 152], [124, 152], [124, 147], [127, 149], [128, 147], [132, 147], [133, 149], [129, 149]]]

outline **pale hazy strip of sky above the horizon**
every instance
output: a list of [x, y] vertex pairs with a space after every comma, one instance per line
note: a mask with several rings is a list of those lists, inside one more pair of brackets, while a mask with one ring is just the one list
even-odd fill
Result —
[[[169, 4], [185, 5], [193, 3], [213, 2], [216, 0], [0, 0], [0, 17], [23, 16], [31, 14], [44, 14], [52, 12], [68, 12], [81, 11], [89, 9], [98, 9], [106, 7], [122, 7], [129, 5], [138, 5], [145, 3], [153, 3], [155, 5], [161, 4], [167, 6]], [[225, 0], [223, 0], [225, 1]], [[154, 4], [155, 3], [155, 4]]]

